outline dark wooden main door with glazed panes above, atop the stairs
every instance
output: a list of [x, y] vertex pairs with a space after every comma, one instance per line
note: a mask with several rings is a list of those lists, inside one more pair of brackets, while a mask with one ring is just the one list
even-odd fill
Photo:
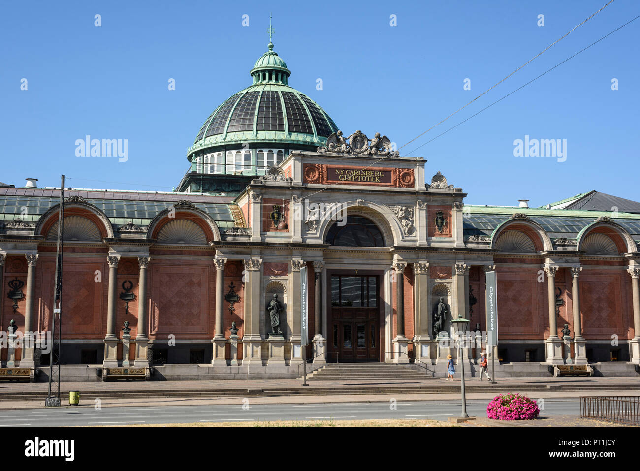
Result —
[[332, 275], [330, 361], [380, 361], [380, 276]]

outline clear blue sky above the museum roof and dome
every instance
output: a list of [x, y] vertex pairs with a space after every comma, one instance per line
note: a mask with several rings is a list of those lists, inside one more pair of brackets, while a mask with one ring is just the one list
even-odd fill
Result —
[[[204, 120], [250, 84], [249, 70], [267, 50], [269, 12], [289, 83], [345, 132], [380, 131], [401, 146], [605, 3], [4, 1], [0, 181], [22, 186], [36, 177], [56, 186], [65, 173], [77, 188], [170, 191]], [[401, 154], [639, 14], [639, 2], [614, 1]], [[537, 206], [591, 189], [640, 200], [639, 44], [640, 19], [410, 155], [428, 159], [428, 179], [440, 170], [470, 204], [527, 198]], [[471, 90], [463, 90], [466, 78]], [[86, 134], [129, 140], [129, 160], [76, 157], [74, 142]], [[514, 157], [513, 141], [525, 134], [566, 139], [566, 161]]]

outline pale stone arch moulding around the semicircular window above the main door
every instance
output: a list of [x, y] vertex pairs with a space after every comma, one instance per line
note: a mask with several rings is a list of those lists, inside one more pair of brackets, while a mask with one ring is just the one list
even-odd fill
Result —
[[[346, 202], [345, 205], [347, 216], [362, 216], [375, 223], [385, 238], [387, 247], [396, 245], [403, 239], [400, 221], [397, 219], [396, 214], [387, 207], [362, 201]], [[332, 218], [332, 214], [323, 214], [318, 227], [318, 234], [323, 241], [326, 241], [333, 223], [335, 223], [335, 218]]]

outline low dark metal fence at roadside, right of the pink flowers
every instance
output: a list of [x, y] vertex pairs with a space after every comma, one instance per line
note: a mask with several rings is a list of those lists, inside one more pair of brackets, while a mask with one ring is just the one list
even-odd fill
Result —
[[580, 418], [640, 425], [640, 395], [580, 396]]

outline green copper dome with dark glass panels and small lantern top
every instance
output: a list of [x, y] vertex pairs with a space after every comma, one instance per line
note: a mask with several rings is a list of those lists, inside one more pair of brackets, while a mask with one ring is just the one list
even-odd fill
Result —
[[291, 70], [269, 43], [251, 70], [253, 84], [225, 100], [205, 120], [188, 149], [270, 143], [311, 148], [326, 143], [338, 127], [314, 100], [289, 86]]

